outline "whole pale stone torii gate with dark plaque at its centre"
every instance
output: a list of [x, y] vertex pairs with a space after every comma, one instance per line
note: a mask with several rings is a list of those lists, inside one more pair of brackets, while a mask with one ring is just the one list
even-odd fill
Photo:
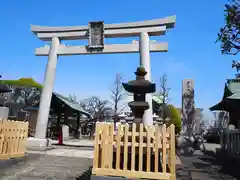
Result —
[[[164, 35], [173, 28], [176, 16], [140, 22], [104, 24], [102, 21], [90, 22], [88, 26], [44, 27], [31, 25], [31, 31], [40, 40], [50, 41], [51, 46], [37, 48], [36, 56], [48, 56], [40, 107], [37, 118], [35, 138], [44, 140], [49, 116], [52, 91], [55, 80], [58, 56], [84, 54], [116, 54], [140, 52], [140, 65], [148, 72], [146, 79], [151, 81], [150, 52], [167, 52], [168, 43], [151, 43], [149, 36]], [[139, 44], [104, 44], [104, 38], [140, 37]], [[66, 46], [61, 40], [88, 39], [87, 46]], [[146, 96], [149, 110], [145, 111], [143, 121], [152, 124], [152, 95]], [[42, 143], [41, 143], [42, 144]]]

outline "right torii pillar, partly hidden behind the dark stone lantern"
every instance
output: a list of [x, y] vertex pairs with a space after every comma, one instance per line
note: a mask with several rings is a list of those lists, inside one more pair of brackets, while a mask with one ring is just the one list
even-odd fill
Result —
[[[149, 36], [147, 32], [142, 32], [140, 34], [139, 51], [140, 51], [140, 65], [143, 66], [147, 72], [145, 79], [148, 81], [151, 81]], [[143, 123], [148, 125], [153, 125], [151, 93], [146, 94], [146, 102], [148, 102], [149, 104], [149, 109], [144, 112]]]

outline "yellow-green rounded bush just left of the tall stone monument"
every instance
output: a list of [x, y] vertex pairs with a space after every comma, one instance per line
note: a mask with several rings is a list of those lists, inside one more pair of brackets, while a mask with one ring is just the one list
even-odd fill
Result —
[[174, 124], [175, 125], [175, 133], [179, 134], [181, 131], [182, 123], [181, 123], [181, 115], [179, 111], [171, 104], [167, 106], [167, 115], [170, 118], [170, 121], [168, 124]]

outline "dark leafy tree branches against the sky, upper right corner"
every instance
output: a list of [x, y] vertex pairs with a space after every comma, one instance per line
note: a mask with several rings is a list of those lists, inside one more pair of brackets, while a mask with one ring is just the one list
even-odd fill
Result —
[[221, 52], [236, 55], [240, 51], [240, 1], [229, 0], [225, 5], [225, 26], [218, 33], [217, 42], [221, 42]]

